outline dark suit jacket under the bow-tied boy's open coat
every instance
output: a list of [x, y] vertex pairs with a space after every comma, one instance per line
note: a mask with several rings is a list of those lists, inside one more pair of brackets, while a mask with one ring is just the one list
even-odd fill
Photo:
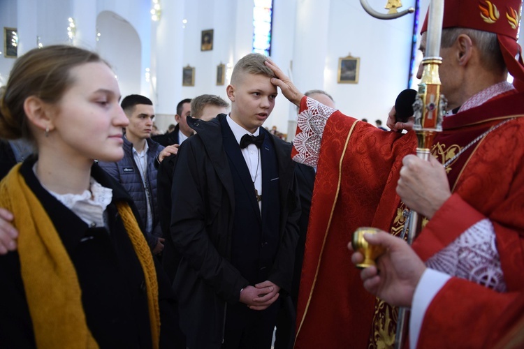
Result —
[[233, 177], [235, 211], [231, 232], [231, 262], [255, 285], [270, 277], [279, 247], [279, 172], [270, 133], [264, 135], [257, 167], [261, 167], [262, 202], [256, 201], [252, 174], [226, 119], [221, 120], [222, 140]]

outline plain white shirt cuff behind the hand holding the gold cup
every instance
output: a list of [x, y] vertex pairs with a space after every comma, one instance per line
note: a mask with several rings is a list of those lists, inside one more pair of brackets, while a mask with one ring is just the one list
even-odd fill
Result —
[[412, 313], [409, 318], [409, 346], [416, 348], [416, 342], [419, 341], [422, 321], [425, 311], [430, 306], [433, 298], [444, 287], [444, 284], [451, 279], [451, 276], [434, 269], [427, 268], [422, 274], [419, 285], [416, 286], [413, 295]]

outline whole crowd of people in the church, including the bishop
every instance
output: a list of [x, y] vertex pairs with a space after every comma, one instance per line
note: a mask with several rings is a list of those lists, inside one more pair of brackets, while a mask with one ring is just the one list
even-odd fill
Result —
[[[413, 117], [344, 115], [261, 54], [157, 135], [98, 54], [24, 54], [0, 90], [0, 347], [391, 348], [398, 307], [412, 348], [523, 346], [521, 0], [492, 3], [445, 1], [430, 161]], [[279, 91], [292, 143], [263, 126]], [[359, 272], [363, 226], [385, 252]]]

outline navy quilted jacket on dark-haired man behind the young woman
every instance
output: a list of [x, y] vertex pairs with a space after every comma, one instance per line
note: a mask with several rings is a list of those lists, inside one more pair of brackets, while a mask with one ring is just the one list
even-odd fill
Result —
[[157, 155], [164, 148], [157, 142], [147, 139], [147, 181], [146, 185], [149, 188], [150, 193], [150, 205], [153, 211], [153, 228], [152, 231], [145, 231], [145, 224], [147, 222], [147, 195], [143, 188], [142, 177], [140, 177], [140, 171], [138, 165], [135, 163], [133, 158], [133, 144], [124, 137], [124, 158], [117, 161], [116, 163], [106, 163], [100, 161], [99, 165], [112, 177], [117, 179], [126, 191], [131, 195], [131, 198], [135, 202], [138, 212], [140, 213], [140, 228], [145, 232], [147, 244], [151, 248], [157, 245], [158, 238], [162, 237], [162, 230], [159, 222], [158, 206], [157, 206], [157, 168], [155, 168], [155, 161], [157, 161]]

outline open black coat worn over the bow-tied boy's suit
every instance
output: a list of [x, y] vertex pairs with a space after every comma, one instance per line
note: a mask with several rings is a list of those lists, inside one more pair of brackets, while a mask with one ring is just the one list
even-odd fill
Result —
[[[196, 135], [177, 154], [170, 233], [182, 254], [173, 288], [190, 348], [219, 348], [226, 303], [235, 304], [249, 285], [231, 265], [234, 185], [223, 146], [221, 120], [188, 120]], [[261, 132], [267, 132], [261, 129]], [[291, 290], [300, 203], [291, 144], [270, 136], [279, 168], [279, 249], [269, 280]]]

